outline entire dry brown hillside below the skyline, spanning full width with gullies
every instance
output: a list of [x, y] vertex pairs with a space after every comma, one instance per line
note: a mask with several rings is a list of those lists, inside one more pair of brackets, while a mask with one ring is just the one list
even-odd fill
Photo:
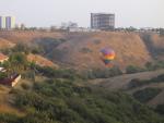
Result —
[[[44, 48], [46, 58], [77, 69], [105, 67], [99, 50], [110, 47], [116, 51], [115, 65], [144, 65], [162, 58], [163, 37], [154, 34], [134, 33], [48, 33], [48, 32], [0, 32], [1, 40], [13, 46], [24, 42]], [[2, 44], [2, 41], [1, 41]]]

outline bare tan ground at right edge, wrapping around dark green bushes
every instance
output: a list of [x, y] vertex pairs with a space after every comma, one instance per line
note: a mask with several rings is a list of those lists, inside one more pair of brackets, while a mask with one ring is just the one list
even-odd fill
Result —
[[148, 106], [155, 108], [157, 104], [164, 103], [164, 83], [153, 83], [153, 84], [144, 85], [144, 86], [132, 88], [132, 89], [127, 89], [127, 86], [129, 82], [133, 78], [150, 79], [161, 74], [164, 74], [164, 70], [159, 70], [154, 72], [142, 72], [142, 73], [137, 73], [137, 74], [127, 74], [127, 75], [125, 74], [125, 75], [120, 75], [120, 76], [116, 76], [112, 78], [94, 79], [94, 81], [90, 81], [90, 84], [102, 86], [109, 90], [119, 90], [119, 89], [122, 90], [124, 89], [129, 95], [132, 95], [134, 91], [141, 90], [148, 87], [162, 88], [162, 93], [160, 93], [155, 98], [153, 98], [151, 101], [148, 102]]

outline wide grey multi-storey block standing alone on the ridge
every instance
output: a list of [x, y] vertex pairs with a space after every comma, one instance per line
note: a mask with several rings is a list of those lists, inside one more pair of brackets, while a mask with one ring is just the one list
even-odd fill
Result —
[[115, 28], [115, 14], [91, 13], [91, 28], [114, 29]]

